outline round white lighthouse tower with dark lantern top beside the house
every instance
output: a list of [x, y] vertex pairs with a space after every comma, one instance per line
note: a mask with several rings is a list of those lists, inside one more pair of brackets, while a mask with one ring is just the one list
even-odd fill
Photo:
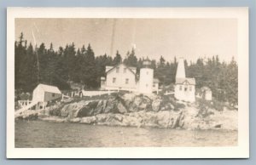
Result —
[[150, 61], [143, 61], [143, 68], [140, 70], [139, 93], [151, 94], [153, 92], [154, 70], [151, 69]]

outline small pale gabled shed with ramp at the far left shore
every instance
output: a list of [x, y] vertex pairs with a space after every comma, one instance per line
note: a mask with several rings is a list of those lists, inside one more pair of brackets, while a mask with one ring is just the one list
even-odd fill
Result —
[[33, 90], [32, 101], [47, 102], [51, 100], [60, 99], [62, 96], [59, 88], [51, 85], [38, 84]]

